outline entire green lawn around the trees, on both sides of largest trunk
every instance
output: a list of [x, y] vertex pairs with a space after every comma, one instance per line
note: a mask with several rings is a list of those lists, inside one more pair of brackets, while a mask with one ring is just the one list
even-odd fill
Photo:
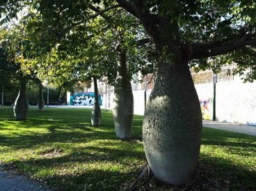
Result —
[[[0, 164], [56, 190], [127, 190], [146, 163], [143, 117], [134, 116], [134, 140], [115, 138], [112, 114], [102, 110], [100, 128], [89, 109], [29, 108], [29, 119], [0, 111]], [[202, 129], [195, 183], [172, 186], [154, 176], [137, 190], [256, 190], [256, 137]]]

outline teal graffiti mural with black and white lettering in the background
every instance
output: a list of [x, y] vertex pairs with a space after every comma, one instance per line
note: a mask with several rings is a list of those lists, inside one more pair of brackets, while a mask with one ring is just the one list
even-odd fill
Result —
[[[102, 106], [102, 97], [99, 97], [99, 105]], [[95, 93], [77, 93], [70, 97], [70, 105], [72, 106], [94, 106], [95, 103]]]

